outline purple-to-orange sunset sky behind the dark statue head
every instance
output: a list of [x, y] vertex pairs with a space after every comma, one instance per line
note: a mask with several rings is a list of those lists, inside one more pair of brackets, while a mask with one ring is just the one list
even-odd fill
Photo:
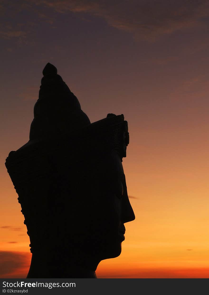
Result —
[[91, 122], [124, 114], [123, 159], [136, 219], [98, 278], [208, 278], [209, 3], [202, 0], [0, 1], [0, 277], [31, 253], [4, 165], [29, 140], [50, 62]]

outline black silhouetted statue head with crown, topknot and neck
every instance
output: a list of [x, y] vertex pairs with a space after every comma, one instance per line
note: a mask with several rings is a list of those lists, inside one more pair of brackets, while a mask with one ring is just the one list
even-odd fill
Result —
[[135, 219], [122, 158], [124, 116], [90, 123], [57, 69], [43, 70], [30, 140], [6, 158], [32, 253], [27, 278], [96, 278], [101, 260], [121, 253]]

